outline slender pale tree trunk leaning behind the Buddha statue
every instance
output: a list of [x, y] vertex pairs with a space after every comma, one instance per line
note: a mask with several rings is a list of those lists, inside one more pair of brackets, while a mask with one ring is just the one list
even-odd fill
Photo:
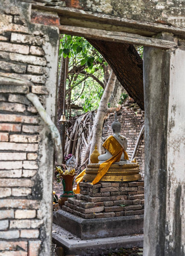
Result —
[[116, 76], [112, 70], [112, 72], [110, 73], [110, 76], [109, 76], [109, 80], [107, 82], [107, 86], [106, 86], [106, 88], [103, 92], [102, 98], [100, 100], [100, 104], [97, 109], [95, 121], [94, 121], [94, 124], [92, 127], [93, 133], [92, 133], [90, 154], [94, 150], [95, 145], [97, 145], [97, 149], [99, 152], [101, 150], [101, 136], [102, 136], [104, 117], [108, 110], [107, 104], [109, 102], [110, 96], [114, 91], [115, 82], [116, 82]]

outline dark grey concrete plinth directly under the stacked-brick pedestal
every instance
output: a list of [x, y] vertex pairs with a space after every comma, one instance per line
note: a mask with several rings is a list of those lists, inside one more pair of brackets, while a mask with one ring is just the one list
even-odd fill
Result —
[[63, 210], [53, 213], [53, 223], [80, 239], [143, 234], [143, 215], [84, 219]]

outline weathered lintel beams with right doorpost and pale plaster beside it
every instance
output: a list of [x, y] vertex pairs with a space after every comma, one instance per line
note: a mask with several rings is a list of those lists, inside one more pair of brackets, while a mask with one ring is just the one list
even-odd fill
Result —
[[185, 29], [36, 4], [32, 22], [54, 25], [60, 33], [144, 45], [144, 256], [184, 255]]

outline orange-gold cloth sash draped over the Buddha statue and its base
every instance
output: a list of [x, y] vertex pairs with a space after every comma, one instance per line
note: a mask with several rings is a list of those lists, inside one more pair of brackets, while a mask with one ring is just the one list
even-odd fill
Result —
[[110, 168], [110, 165], [112, 165], [115, 162], [120, 162], [121, 155], [124, 152], [124, 158], [128, 160], [128, 154], [122, 148], [121, 144], [119, 144], [118, 140], [114, 138], [114, 136], [110, 136], [102, 145], [106, 150], [112, 154], [112, 157], [106, 160], [106, 162], [100, 164], [100, 167], [98, 169], [97, 175], [92, 181], [91, 184], [96, 184], [98, 181], [101, 180], [101, 178], [107, 173], [108, 169]]

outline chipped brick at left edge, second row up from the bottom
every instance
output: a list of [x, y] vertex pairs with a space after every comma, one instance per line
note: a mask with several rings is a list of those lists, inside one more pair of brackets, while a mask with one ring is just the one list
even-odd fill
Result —
[[0, 241], [0, 248], [2, 251], [15, 251], [18, 247], [27, 252], [27, 248], [28, 248], [27, 245], [28, 245], [27, 241], [17, 241], [17, 242]]

